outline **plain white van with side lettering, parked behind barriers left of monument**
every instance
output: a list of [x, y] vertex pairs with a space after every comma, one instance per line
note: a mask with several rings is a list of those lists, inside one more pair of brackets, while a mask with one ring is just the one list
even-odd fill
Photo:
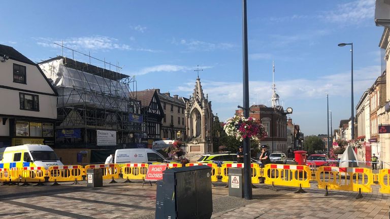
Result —
[[118, 149], [115, 151], [114, 163], [171, 163], [153, 149]]

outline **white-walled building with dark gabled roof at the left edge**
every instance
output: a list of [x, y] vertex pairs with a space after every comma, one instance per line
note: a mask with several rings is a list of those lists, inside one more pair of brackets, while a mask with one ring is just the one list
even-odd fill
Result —
[[0, 45], [0, 148], [26, 143], [54, 146], [57, 92], [41, 68]]

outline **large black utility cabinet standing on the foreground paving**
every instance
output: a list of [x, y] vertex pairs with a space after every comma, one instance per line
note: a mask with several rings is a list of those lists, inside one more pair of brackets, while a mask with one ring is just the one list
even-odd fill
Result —
[[157, 181], [156, 219], [209, 219], [213, 212], [211, 168], [167, 169]]

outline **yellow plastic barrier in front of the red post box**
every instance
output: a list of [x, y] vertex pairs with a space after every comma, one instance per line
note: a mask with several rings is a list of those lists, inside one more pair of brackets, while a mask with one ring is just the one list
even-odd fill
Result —
[[265, 184], [310, 188], [311, 170], [305, 165], [267, 164], [263, 168]]

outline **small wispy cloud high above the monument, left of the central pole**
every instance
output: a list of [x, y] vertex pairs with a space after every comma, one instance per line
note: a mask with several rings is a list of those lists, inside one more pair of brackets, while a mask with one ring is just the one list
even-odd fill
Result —
[[172, 44], [185, 46], [188, 50], [193, 51], [214, 51], [217, 49], [231, 49], [234, 48], [235, 45], [230, 43], [208, 43], [199, 40], [172, 40]]

